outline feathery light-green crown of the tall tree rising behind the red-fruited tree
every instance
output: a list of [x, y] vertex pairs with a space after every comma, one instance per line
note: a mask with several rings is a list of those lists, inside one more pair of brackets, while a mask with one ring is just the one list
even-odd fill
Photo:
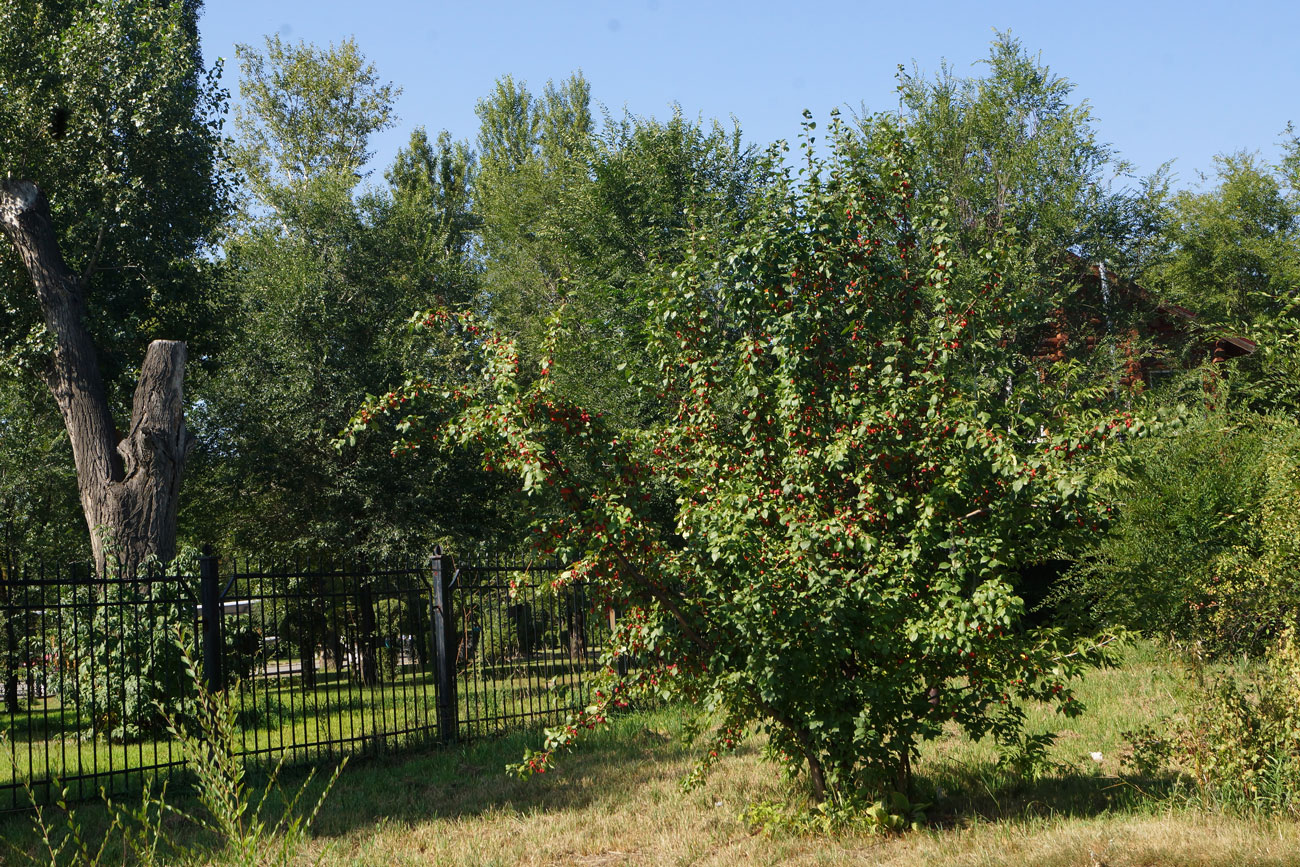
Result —
[[[1139, 203], [1113, 190], [1127, 165], [1097, 139], [1074, 83], [1001, 32], [983, 75], [900, 70], [902, 125], [916, 148], [918, 195], [948, 196], [954, 243], [974, 251], [1014, 229], [1017, 256], [1037, 277], [1067, 251], [1126, 261]], [[1119, 261], [1115, 261], [1119, 260]]]

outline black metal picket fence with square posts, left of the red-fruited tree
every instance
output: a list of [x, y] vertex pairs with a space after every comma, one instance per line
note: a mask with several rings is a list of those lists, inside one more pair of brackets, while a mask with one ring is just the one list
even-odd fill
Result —
[[[476, 738], [588, 703], [604, 619], [559, 567], [199, 558], [133, 578], [0, 581], [0, 811], [183, 766], [186, 656], [234, 695], [237, 750], [315, 762]], [[178, 641], [179, 636], [179, 641]], [[30, 790], [30, 794], [29, 794]]]

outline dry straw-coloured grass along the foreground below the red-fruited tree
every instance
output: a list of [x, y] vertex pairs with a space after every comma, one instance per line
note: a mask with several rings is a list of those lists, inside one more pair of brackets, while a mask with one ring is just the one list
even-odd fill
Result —
[[[666, 715], [642, 718], [650, 725]], [[350, 771], [309, 861], [325, 864], [1300, 864], [1300, 825], [1164, 812], [957, 816], [896, 838], [755, 835], [738, 815], [783, 797], [753, 745], [682, 796], [689, 755], [651, 729], [616, 732], [532, 781], [495, 749]], [[389, 794], [369, 797], [380, 781]]]

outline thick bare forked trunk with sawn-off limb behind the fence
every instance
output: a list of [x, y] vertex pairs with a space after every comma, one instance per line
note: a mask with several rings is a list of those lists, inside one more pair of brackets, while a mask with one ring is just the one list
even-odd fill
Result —
[[72, 442], [96, 568], [114, 559], [133, 575], [151, 556], [170, 560], [181, 474], [192, 445], [182, 396], [185, 343], [150, 344], [127, 433], [118, 434], [82, 320], [84, 286], [58, 250], [46, 195], [30, 181], [0, 179], [0, 224], [31, 276], [53, 338], [40, 374]]

